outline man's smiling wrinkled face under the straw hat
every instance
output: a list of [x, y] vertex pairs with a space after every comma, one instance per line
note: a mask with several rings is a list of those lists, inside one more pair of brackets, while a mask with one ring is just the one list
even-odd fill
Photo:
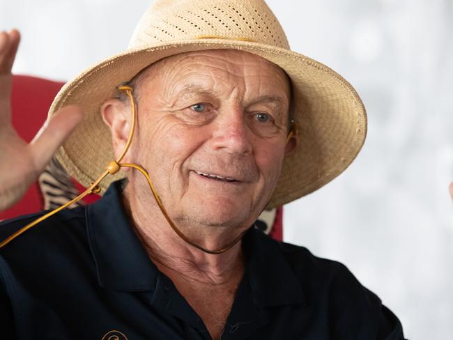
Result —
[[[210, 50], [155, 63], [138, 83], [132, 162], [150, 173], [171, 219], [252, 224], [270, 199], [285, 153], [290, 87], [284, 72], [253, 54]], [[150, 196], [140, 174], [130, 181], [137, 194]]]

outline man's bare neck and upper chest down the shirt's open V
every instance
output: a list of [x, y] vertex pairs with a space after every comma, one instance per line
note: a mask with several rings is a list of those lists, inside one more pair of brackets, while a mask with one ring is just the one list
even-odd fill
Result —
[[[204, 321], [212, 339], [220, 339], [244, 273], [242, 241], [222, 254], [202, 252], [176, 235], [150, 196], [129, 185], [123, 191], [135, 231], [153, 263]], [[175, 222], [192, 242], [207, 249], [224, 247], [247, 228], [188, 224], [187, 219]]]

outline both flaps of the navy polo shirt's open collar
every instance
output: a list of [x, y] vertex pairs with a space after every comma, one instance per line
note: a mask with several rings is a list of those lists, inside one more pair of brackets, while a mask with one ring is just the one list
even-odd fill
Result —
[[[101, 199], [86, 208], [86, 228], [100, 286], [118, 291], [154, 291], [159, 271], [128, 219], [114, 182]], [[305, 304], [300, 281], [279, 243], [251, 228], [244, 236], [246, 271], [256, 302], [262, 307]]]

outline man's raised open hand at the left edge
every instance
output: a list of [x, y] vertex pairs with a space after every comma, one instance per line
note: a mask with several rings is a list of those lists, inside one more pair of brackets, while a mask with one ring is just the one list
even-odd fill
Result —
[[[0, 211], [18, 201], [44, 170], [55, 151], [82, 121], [75, 105], [63, 107], [26, 144], [11, 125], [11, 86], [20, 33], [0, 32]], [[29, 112], [33, 114], [33, 112]]]

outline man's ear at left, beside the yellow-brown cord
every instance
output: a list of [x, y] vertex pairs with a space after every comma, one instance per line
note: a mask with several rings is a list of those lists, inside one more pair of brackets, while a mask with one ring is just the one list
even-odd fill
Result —
[[[118, 158], [128, 142], [131, 127], [130, 106], [118, 99], [109, 99], [100, 107], [100, 113], [104, 122], [112, 132], [112, 144], [115, 158]], [[121, 162], [131, 162], [131, 150], [125, 154]], [[128, 167], [121, 168], [128, 171]]]

